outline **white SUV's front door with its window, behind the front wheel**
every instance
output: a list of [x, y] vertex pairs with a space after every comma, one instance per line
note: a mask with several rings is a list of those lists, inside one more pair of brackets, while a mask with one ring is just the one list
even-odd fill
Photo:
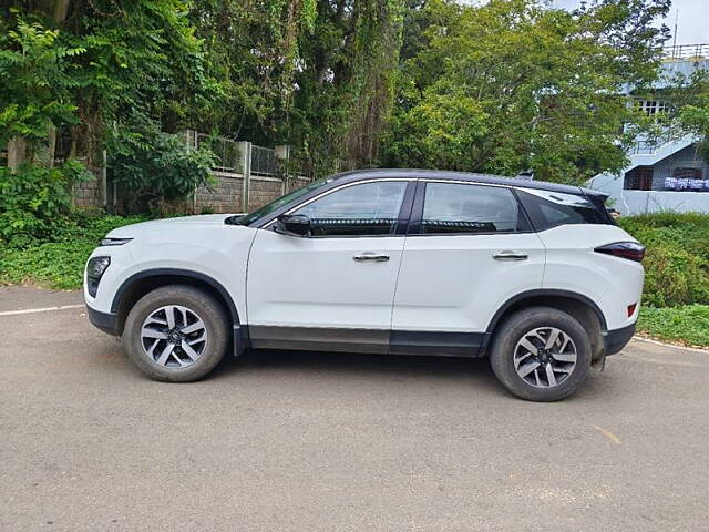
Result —
[[247, 275], [254, 347], [387, 351], [404, 197], [414, 185], [380, 180], [329, 191], [289, 213], [310, 218], [309, 237], [258, 229]]

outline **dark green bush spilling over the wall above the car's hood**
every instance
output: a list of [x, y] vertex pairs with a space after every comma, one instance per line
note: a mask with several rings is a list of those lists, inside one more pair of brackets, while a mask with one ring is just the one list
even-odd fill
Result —
[[144, 202], [184, 200], [209, 184], [214, 154], [187, 146], [181, 135], [153, 132], [125, 139], [110, 161], [113, 178]]

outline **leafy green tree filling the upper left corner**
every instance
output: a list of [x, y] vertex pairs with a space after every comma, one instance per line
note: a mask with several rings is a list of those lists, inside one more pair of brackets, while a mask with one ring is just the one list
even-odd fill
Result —
[[176, 131], [214, 100], [202, 43], [179, 0], [2, 1], [0, 21], [8, 80], [0, 113], [14, 116], [10, 132], [37, 144], [62, 127], [64, 155], [90, 167], [116, 132], [140, 140], [152, 123]]

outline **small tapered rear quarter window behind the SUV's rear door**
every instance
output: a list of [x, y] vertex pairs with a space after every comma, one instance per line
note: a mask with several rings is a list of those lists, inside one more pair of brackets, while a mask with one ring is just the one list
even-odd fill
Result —
[[613, 224], [602, 204], [580, 194], [525, 188], [517, 190], [517, 196], [537, 231], [558, 225]]

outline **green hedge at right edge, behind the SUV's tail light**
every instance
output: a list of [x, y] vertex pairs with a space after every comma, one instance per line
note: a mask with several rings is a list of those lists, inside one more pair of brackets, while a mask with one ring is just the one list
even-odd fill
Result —
[[709, 305], [709, 216], [658, 213], [619, 223], [647, 247], [645, 305]]

